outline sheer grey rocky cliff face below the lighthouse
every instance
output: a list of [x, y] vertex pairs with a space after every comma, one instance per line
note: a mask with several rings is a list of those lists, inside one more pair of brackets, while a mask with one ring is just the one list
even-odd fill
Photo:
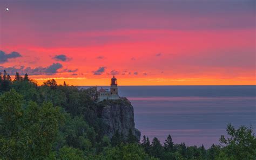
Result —
[[140, 131], [134, 127], [134, 113], [131, 102], [126, 98], [119, 100], [107, 100], [100, 102], [99, 116], [106, 123], [105, 135], [110, 138], [115, 131], [123, 133], [124, 136], [129, 134], [129, 130], [140, 140]]

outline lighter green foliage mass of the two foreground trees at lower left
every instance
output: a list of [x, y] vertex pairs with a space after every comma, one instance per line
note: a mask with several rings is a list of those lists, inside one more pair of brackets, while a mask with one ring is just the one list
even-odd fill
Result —
[[22, 108], [22, 96], [11, 89], [1, 96], [0, 110], [1, 157], [43, 159], [49, 156], [61, 121], [59, 108], [51, 103], [38, 106], [35, 102]]

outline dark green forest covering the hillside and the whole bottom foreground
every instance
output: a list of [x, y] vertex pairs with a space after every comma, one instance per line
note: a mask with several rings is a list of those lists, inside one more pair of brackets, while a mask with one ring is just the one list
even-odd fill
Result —
[[39, 86], [16, 73], [0, 73], [0, 159], [256, 159], [252, 126], [227, 124], [227, 136], [208, 149], [201, 145], [139, 141], [118, 131], [103, 135], [97, 89], [78, 89], [54, 79]]

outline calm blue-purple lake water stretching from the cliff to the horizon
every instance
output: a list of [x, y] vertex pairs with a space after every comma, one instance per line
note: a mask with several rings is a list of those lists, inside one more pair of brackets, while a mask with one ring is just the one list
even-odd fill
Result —
[[[104, 87], [109, 88], [109, 87]], [[142, 136], [162, 143], [219, 144], [226, 125], [256, 127], [256, 86], [119, 86]]]

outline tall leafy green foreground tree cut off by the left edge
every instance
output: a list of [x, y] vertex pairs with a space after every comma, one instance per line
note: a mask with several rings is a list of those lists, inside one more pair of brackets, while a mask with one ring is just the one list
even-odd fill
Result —
[[0, 96], [0, 158], [18, 159], [18, 142], [23, 115], [22, 96], [14, 89]]

